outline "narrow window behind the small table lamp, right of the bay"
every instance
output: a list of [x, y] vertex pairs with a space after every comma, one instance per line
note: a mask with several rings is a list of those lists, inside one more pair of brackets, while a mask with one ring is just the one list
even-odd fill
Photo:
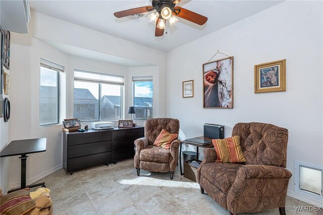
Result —
[[135, 119], [152, 118], [152, 77], [132, 77], [133, 105], [136, 110]]

